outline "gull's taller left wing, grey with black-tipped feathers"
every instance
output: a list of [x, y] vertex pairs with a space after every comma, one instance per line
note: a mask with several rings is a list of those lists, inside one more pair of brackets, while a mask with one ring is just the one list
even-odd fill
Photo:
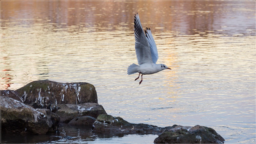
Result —
[[[148, 39], [140, 23], [140, 17], [137, 13], [134, 19], [135, 51], [139, 65], [144, 63], [153, 63], [151, 58]], [[153, 38], [153, 37], [152, 37]], [[156, 51], [157, 52], [157, 51]]]

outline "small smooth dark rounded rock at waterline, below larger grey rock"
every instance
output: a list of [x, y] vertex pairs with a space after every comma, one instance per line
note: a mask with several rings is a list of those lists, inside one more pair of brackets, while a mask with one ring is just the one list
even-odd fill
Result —
[[73, 118], [69, 125], [92, 125], [96, 121], [96, 118], [92, 116], [81, 116]]

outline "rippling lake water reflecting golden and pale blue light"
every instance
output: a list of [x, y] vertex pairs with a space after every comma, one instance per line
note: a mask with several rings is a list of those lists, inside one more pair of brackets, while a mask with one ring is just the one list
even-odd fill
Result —
[[[88, 82], [99, 104], [130, 123], [208, 126], [225, 143], [255, 139], [254, 1], [2, 1], [1, 90], [35, 80]], [[133, 18], [150, 27], [157, 63], [138, 76]], [[73, 132], [74, 131], [74, 132]], [[85, 134], [86, 133], [86, 134]], [[86, 136], [83, 136], [86, 135]], [[5, 143], [153, 143], [157, 135], [99, 136], [81, 127]], [[18, 139], [19, 138], [19, 139]]]

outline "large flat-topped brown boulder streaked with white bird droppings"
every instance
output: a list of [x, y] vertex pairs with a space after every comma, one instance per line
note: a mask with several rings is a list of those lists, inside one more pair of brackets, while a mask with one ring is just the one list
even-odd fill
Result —
[[25, 104], [52, 112], [59, 104], [98, 103], [95, 87], [89, 83], [57, 83], [48, 80], [31, 82], [16, 90]]

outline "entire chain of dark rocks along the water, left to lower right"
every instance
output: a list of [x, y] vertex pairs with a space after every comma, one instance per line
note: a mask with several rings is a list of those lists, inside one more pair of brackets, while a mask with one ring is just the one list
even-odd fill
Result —
[[40, 80], [16, 91], [1, 90], [1, 132], [45, 134], [57, 131], [61, 123], [91, 125], [99, 134], [157, 134], [154, 143], [224, 143], [205, 126], [157, 127], [108, 115], [89, 83]]

